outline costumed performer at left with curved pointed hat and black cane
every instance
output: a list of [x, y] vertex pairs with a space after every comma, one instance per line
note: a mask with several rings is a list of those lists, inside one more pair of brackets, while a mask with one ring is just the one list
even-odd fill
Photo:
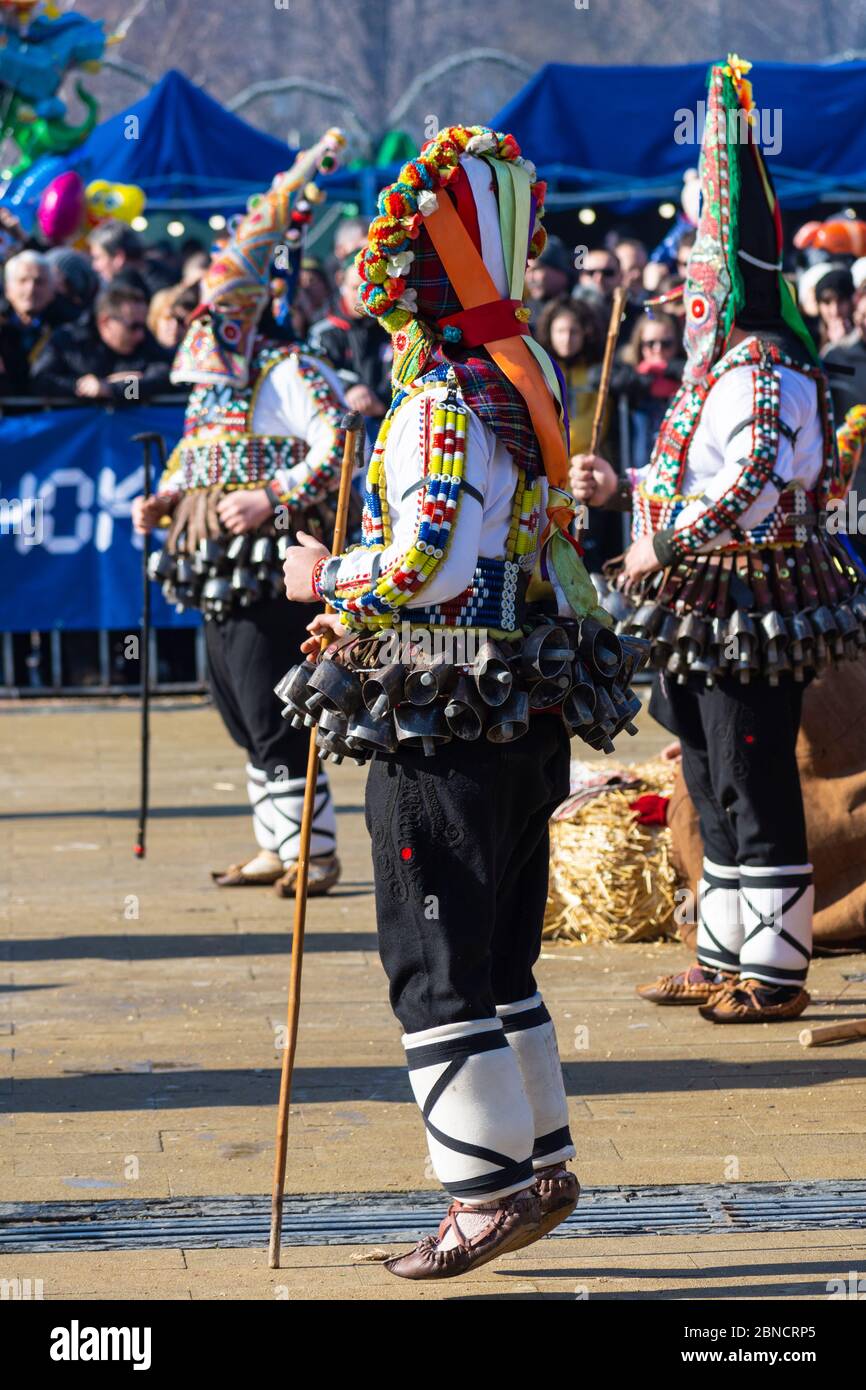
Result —
[[[274, 685], [286, 645], [314, 609], [288, 603], [281, 563], [296, 532], [331, 535], [342, 457], [342, 393], [335, 374], [296, 345], [268, 338], [272, 263], [296, 268], [311, 203], [309, 182], [336, 164], [329, 131], [252, 202], [203, 279], [203, 303], [172, 370], [190, 382], [183, 438], [158, 492], [136, 499], [133, 521], [171, 518], [153, 577], [171, 603], [206, 617], [214, 702], [246, 751], [257, 853], [214, 873], [220, 887], [274, 884], [295, 891], [309, 738], [282, 719]], [[285, 265], [282, 267], [285, 268]], [[339, 877], [328, 778], [317, 785], [310, 892]]]

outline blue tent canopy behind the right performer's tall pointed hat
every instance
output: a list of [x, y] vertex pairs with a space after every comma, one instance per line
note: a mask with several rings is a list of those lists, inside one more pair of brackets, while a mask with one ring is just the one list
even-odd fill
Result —
[[[550, 181], [549, 206], [648, 202], [680, 192], [698, 161], [708, 63], [573, 67], [549, 63], [491, 121]], [[756, 63], [762, 145], [783, 203], [866, 195], [866, 63]], [[683, 140], [689, 133], [692, 140]], [[680, 143], [678, 138], [680, 136]]]

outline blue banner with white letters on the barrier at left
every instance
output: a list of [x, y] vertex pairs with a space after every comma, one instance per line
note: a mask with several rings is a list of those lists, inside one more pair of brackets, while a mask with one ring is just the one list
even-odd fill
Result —
[[[0, 421], [0, 632], [138, 626], [142, 541], [129, 513], [145, 480], [132, 435], [156, 430], [171, 449], [182, 425], [181, 406]], [[199, 621], [152, 592], [156, 627]]]

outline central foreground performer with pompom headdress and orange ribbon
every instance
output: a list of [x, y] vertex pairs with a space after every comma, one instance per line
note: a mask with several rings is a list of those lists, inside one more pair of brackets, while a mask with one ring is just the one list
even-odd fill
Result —
[[[379, 197], [360, 299], [393, 336], [395, 398], [363, 545], [289, 550], [286, 592], [342, 634], [286, 676], [367, 781], [379, 949], [436, 1176], [438, 1236], [386, 1268], [443, 1279], [574, 1208], [550, 1016], [532, 966], [569, 737], [610, 746], [642, 644], [598, 607], [575, 542], [563, 385], [530, 335], [544, 183], [512, 136], [448, 128]], [[398, 634], [403, 632], [403, 639]], [[409, 634], [409, 635], [407, 635]], [[313, 639], [306, 651], [318, 644]], [[474, 655], [473, 655], [474, 653]]]

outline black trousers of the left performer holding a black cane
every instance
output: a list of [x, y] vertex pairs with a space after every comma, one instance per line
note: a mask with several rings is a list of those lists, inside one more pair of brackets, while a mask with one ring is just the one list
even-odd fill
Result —
[[317, 612], [317, 605], [279, 598], [253, 603], [224, 623], [204, 624], [214, 705], [231, 737], [270, 781], [306, 776], [310, 735], [282, 717], [274, 687], [300, 660], [306, 626]]

